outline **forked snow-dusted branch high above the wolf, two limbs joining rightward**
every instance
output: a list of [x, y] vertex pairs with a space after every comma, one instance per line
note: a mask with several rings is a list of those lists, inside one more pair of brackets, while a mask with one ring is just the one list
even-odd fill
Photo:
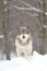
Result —
[[[16, 0], [15, 0], [16, 1]], [[22, 1], [22, 0], [17, 0], [19, 2], [21, 2], [21, 3], [23, 3], [23, 4], [25, 4], [25, 5], [27, 5], [27, 8], [20, 8], [20, 7], [17, 7], [17, 5], [14, 5], [13, 8], [16, 8], [16, 9], [19, 9], [19, 10], [35, 10], [35, 11], [37, 11], [37, 12], [43, 12], [42, 10], [39, 10], [39, 9], [37, 9], [37, 8], [35, 8], [35, 7], [33, 7], [32, 4], [30, 4], [30, 3], [27, 3], [27, 2], [25, 2], [25, 1]]]

